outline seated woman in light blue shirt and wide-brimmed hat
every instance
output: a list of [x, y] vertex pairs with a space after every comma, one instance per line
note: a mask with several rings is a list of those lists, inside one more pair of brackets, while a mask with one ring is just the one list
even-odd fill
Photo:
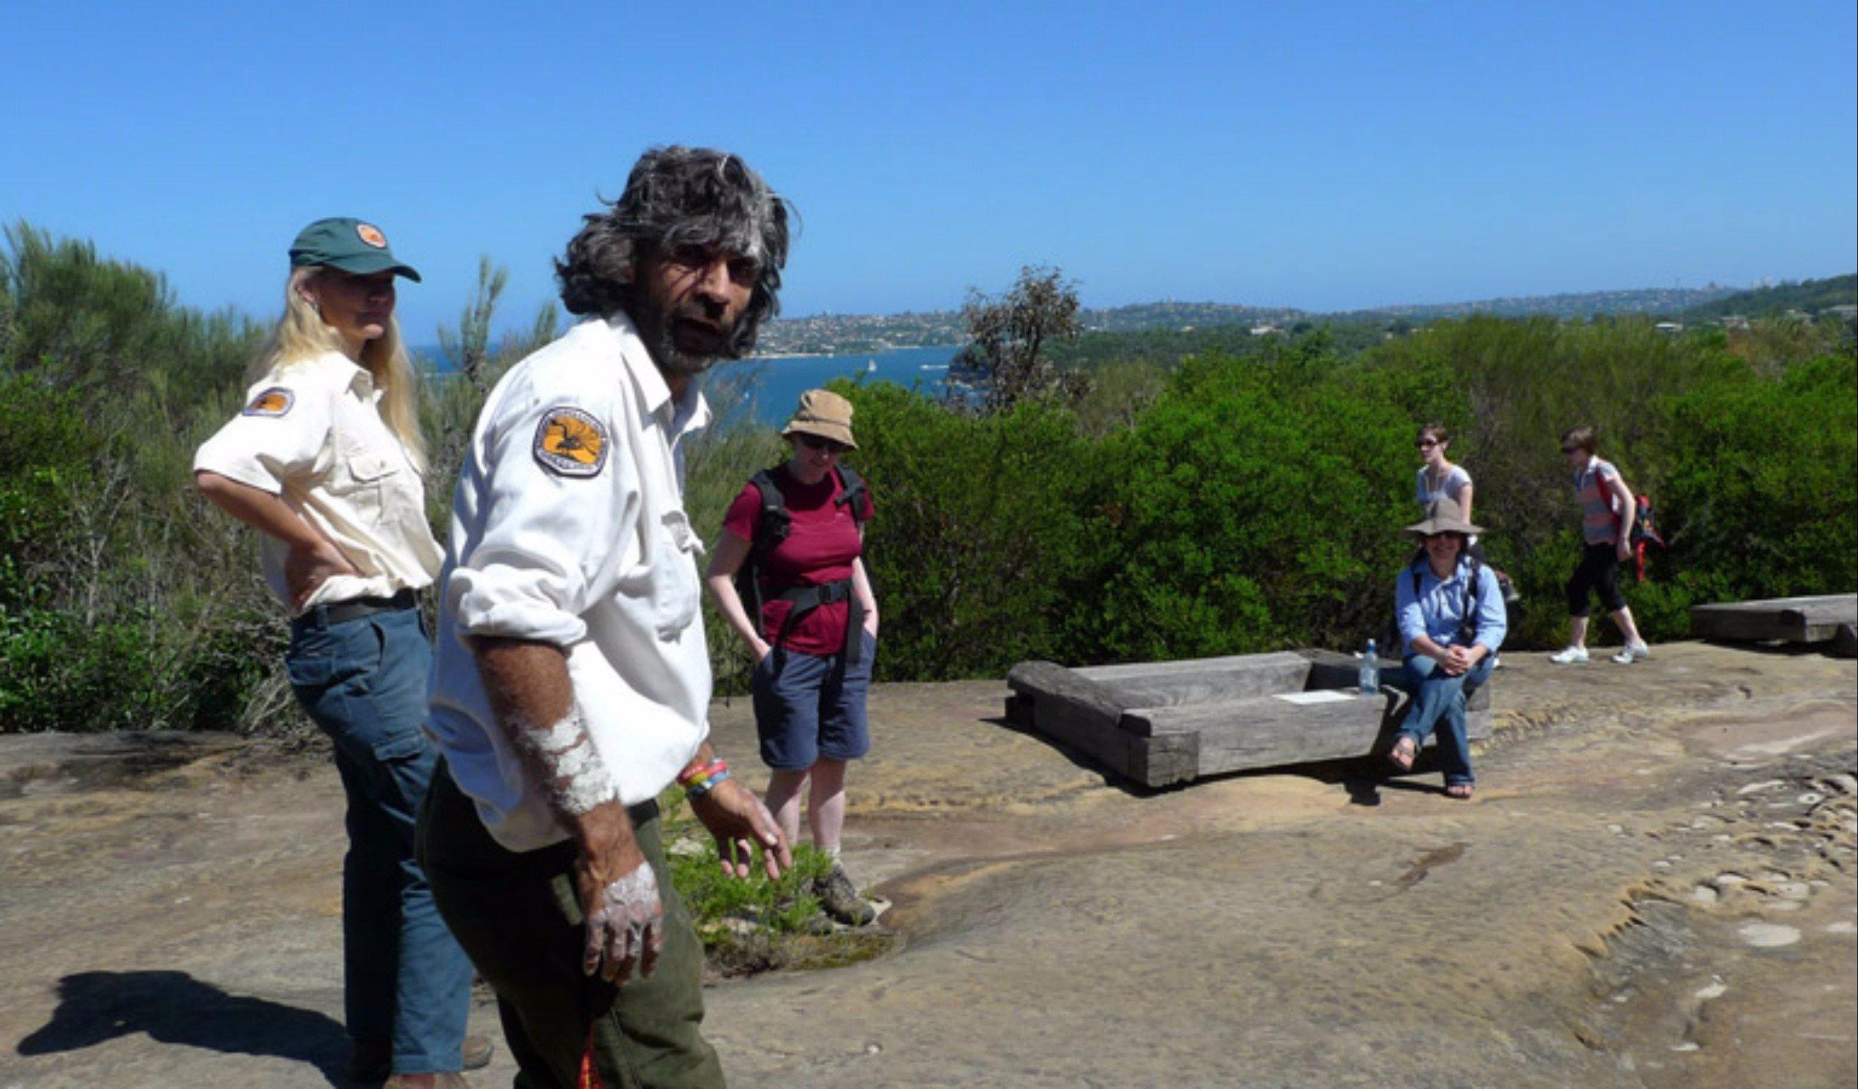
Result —
[[1427, 518], [1407, 526], [1407, 533], [1425, 544], [1425, 554], [1401, 571], [1394, 593], [1412, 699], [1388, 760], [1410, 771], [1420, 745], [1436, 728], [1446, 795], [1468, 799], [1473, 775], [1464, 702], [1490, 676], [1503, 645], [1509, 628], [1503, 591], [1496, 572], [1466, 554], [1468, 537], [1483, 530], [1464, 520], [1459, 504], [1434, 500]]

